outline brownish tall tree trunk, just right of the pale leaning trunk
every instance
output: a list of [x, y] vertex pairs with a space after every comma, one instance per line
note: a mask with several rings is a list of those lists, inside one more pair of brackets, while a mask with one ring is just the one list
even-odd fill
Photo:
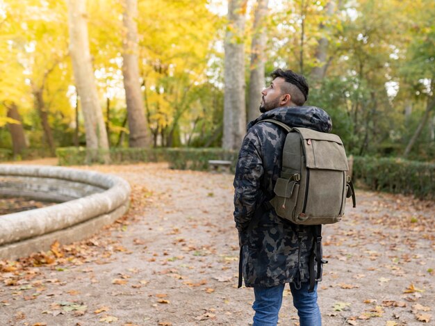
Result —
[[124, 89], [126, 96], [127, 112], [129, 113], [129, 145], [130, 147], [149, 147], [147, 120], [145, 108], [140, 91], [139, 66], [138, 66], [138, 17], [137, 0], [123, 0], [124, 24], [123, 64]]

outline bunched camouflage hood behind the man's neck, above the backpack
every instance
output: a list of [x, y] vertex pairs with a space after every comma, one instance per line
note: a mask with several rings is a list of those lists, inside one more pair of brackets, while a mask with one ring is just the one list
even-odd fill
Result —
[[265, 119], [284, 122], [288, 127], [303, 127], [324, 133], [329, 133], [332, 129], [332, 120], [329, 114], [316, 106], [284, 106], [274, 108], [249, 122], [247, 129]]

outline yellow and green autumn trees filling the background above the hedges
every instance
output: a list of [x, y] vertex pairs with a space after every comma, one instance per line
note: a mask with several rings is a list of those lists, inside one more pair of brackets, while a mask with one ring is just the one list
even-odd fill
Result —
[[433, 17], [430, 0], [0, 0], [0, 156], [237, 150], [281, 67], [348, 154], [434, 162]]

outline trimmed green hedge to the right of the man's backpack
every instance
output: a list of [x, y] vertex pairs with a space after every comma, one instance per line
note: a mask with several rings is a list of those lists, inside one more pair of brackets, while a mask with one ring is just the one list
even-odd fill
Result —
[[353, 179], [372, 190], [435, 199], [435, 164], [400, 158], [354, 157]]

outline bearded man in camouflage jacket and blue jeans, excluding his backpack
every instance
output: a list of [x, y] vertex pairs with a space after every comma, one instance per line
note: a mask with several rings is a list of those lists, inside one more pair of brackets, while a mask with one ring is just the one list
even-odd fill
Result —
[[275, 119], [290, 127], [322, 132], [329, 132], [332, 123], [322, 109], [302, 106], [309, 93], [304, 76], [278, 69], [272, 72], [272, 78], [270, 86], [261, 92], [263, 114], [247, 126], [233, 183], [240, 273], [243, 272], [245, 285], [254, 288], [253, 326], [277, 325], [286, 283], [290, 284], [300, 325], [318, 326], [322, 321], [317, 284], [314, 291], [308, 291], [311, 227], [279, 218], [268, 204], [281, 171], [286, 131], [261, 121]]

